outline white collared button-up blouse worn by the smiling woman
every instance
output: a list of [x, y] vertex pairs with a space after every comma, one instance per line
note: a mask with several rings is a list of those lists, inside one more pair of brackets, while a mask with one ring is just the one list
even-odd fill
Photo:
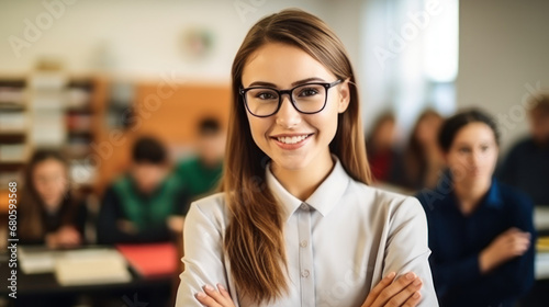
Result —
[[[288, 259], [288, 294], [261, 306], [360, 307], [390, 272], [422, 277], [418, 306], [437, 307], [428, 263], [427, 221], [414, 197], [352, 180], [339, 160], [316, 191], [302, 202], [266, 169], [267, 187], [282, 207]], [[202, 306], [202, 286], [225, 286], [238, 307], [256, 306], [238, 295], [223, 250], [228, 223], [222, 193], [194, 202], [184, 225], [184, 272], [177, 307]]]

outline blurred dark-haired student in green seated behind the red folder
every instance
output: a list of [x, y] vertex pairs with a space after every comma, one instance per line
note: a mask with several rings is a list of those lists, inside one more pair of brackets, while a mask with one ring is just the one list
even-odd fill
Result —
[[107, 190], [98, 217], [100, 243], [168, 241], [183, 227], [187, 196], [171, 173], [166, 148], [139, 138], [127, 173]]

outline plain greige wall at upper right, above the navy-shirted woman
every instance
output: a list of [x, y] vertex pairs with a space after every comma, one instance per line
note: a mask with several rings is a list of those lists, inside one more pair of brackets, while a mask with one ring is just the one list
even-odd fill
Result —
[[505, 151], [527, 133], [528, 89], [549, 89], [549, 1], [460, 1], [458, 107], [496, 116]]

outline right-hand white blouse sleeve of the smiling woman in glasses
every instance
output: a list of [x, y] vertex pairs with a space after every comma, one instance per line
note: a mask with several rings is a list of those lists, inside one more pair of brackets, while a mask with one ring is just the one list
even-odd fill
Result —
[[419, 202], [406, 197], [392, 214], [383, 276], [414, 272], [423, 281], [421, 307], [437, 307], [438, 300], [429, 268], [427, 219]]

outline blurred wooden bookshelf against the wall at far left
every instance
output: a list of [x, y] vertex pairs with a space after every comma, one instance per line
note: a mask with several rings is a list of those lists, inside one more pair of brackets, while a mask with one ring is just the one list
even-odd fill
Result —
[[[33, 79], [35, 77], [37, 79]], [[41, 81], [38, 88], [33, 88], [33, 84], [36, 84], [33, 80]], [[48, 88], [49, 83], [52, 83], [52, 89]], [[67, 99], [66, 102], [58, 101], [59, 107], [54, 109], [64, 116], [63, 123], [57, 122], [64, 126], [65, 132], [65, 143], [60, 146], [60, 150], [66, 154], [69, 164], [75, 160], [85, 159], [92, 152], [91, 144], [98, 141], [101, 138], [100, 135], [103, 134], [107, 87], [108, 80], [97, 76], [64, 76], [63, 72], [53, 73], [52, 77], [49, 73], [41, 72], [29, 76], [0, 76], [0, 90], [3, 90], [3, 101], [0, 102], [2, 115], [15, 120], [15, 117], [10, 117], [12, 113], [14, 116], [27, 118], [25, 129], [9, 130], [10, 126], [3, 126], [3, 130], [0, 130], [0, 145], [25, 145], [25, 150], [32, 155], [32, 151], [37, 148], [37, 145], [33, 144], [34, 136], [31, 135], [33, 128], [36, 128], [36, 120], [42, 120], [44, 118], [42, 116], [47, 115], [37, 111], [31, 102], [34, 99], [41, 99], [42, 94], [51, 100], [55, 96], [53, 93], [59, 93], [59, 99]], [[19, 90], [22, 94], [19, 94]], [[10, 101], [12, 98], [13, 102]], [[24, 101], [19, 101], [20, 98]], [[21, 113], [24, 115], [20, 115]], [[37, 129], [40, 132], [41, 128]], [[43, 146], [48, 147], [46, 144]], [[57, 144], [53, 145], [53, 148], [57, 147]], [[3, 174], [5, 179], [10, 177], [10, 172], [20, 172], [25, 162], [26, 159], [0, 161], [0, 175]], [[99, 175], [93, 178], [99, 178]], [[97, 191], [97, 182], [77, 186], [86, 193]]]

